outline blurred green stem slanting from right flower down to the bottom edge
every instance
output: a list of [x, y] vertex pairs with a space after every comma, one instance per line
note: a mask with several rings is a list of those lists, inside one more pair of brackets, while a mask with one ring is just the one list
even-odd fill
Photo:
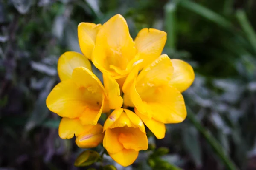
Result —
[[215, 153], [220, 157], [226, 166], [227, 170], [239, 170], [238, 167], [233, 163], [233, 161], [225, 154], [221, 144], [209, 133], [201, 123], [195, 118], [195, 114], [187, 107], [187, 118], [193, 123], [193, 125], [198, 129], [198, 131], [204, 136], [207, 142], [211, 145]]

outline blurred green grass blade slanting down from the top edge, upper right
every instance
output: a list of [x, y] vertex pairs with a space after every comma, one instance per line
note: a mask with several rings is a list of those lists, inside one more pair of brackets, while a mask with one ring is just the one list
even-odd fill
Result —
[[190, 0], [180, 0], [180, 5], [201, 15], [202, 17], [207, 18], [208, 20], [211, 20], [214, 23], [217, 23], [219, 26], [227, 30], [233, 29], [232, 23], [230, 23], [227, 19], [215, 13], [214, 11], [209, 10], [208, 8], [199, 5], [198, 3], [192, 2]]

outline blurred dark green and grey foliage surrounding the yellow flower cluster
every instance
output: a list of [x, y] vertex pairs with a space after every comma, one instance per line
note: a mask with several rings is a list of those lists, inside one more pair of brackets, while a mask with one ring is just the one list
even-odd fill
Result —
[[[255, 0], [0, 0], [0, 170], [78, 170], [81, 149], [58, 137], [60, 117], [45, 100], [57, 61], [80, 51], [77, 25], [122, 14], [167, 32], [163, 53], [195, 70], [183, 93], [188, 116], [148, 133], [149, 151], [118, 170], [256, 170]], [[96, 73], [98, 73], [96, 71]], [[102, 146], [94, 150], [102, 150]], [[101, 163], [90, 167], [99, 169]]]

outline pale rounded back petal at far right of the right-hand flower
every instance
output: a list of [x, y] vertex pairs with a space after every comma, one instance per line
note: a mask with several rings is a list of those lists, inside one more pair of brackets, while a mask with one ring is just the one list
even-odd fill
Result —
[[180, 59], [171, 59], [171, 61], [174, 67], [174, 72], [169, 83], [180, 92], [183, 92], [189, 88], [194, 81], [195, 73], [189, 63]]

